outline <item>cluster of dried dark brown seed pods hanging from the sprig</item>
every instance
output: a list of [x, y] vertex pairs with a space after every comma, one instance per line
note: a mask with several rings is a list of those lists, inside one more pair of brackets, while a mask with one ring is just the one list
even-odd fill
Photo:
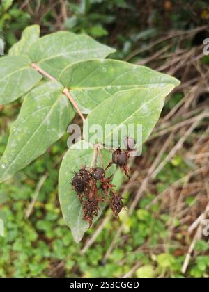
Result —
[[127, 150], [116, 149], [105, 170], [98, 167], [87, 170], [83, 167], [73, 177], [72, 187], [77, 192], [79, 202], [82, 204], [84, 220], [88, 221], [89, 227], [92, 225], [93, 217], [98, 216], [100, 202], [109, 202], [114, 216], [118, 218], [118, 213], [123, 209], [122, 197], [115, 192], [114, 185], [111, 184], [112, 176], [106, 177], [106, 171], [112, 164], [116, 164], [130, 178], [127, 167], [129, 156], [128, 147]]

